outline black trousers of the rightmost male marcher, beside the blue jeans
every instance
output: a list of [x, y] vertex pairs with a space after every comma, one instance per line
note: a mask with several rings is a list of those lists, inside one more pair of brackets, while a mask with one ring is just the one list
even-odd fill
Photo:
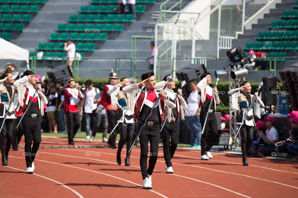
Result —
[[[205, 119], [206, 119], [207, 113], [201, 111], [200, 113], [200, 122], [201, 122], [201, 126], [202, 126], [202, 130], [204, 127], [204, 123], [205, 123]], [[208, 140], [208, 142], [206, 142], [206, 137], [207, 137], [207, 133], [209, 131], [211, 131], [211, 136]], [[202, 132], [202, 137], [201, 137], [201, 155], [205, 155], [206, 151], [209, 152], [214, 144], [215, 138], [217, 136], [217, 121], [216, 121], [216, 117], [215, 117], [215, 113], [211, 113], [208, 115], [207, 118], [207, 122], [206, 122], [206, 126], [204, 129], [204, 132]]]

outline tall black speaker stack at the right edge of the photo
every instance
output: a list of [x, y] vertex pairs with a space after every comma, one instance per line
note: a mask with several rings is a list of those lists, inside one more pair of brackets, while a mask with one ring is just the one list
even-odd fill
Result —
[[298, 62], [279, 71], [279, 75], [286, 93], [288, 113], [291, 113], [298, 108]]

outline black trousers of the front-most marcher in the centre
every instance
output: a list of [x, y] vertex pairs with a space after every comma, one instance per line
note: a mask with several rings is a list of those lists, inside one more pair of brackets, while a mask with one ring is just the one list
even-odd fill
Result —
[[[142, 123], [139, 124], [139, 129], [141, 129]], [[148, 126], [145, 125], [139, 136], [141, 156], [140, 156], [140, 166], [143, 179], [148, 177], [147, 174], [151, 175], [154, 170], [154, 166], [158, 157], [158, 145], [160, 136], [160, 125]], [[147, 157], [148, 157], [148, 140], [150, 141], [150, 158], [147, 168]]]

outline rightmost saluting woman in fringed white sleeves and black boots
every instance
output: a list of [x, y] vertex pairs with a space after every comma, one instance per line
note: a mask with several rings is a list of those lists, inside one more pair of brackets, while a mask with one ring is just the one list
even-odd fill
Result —
[[[254, 115], [257, 116], [258, 118], [261, 118], [260, 108], [261, 107], [264, 108], [264, 104], [259, 98], [257, 92], [255, 93], [256, 102], [253, 102], [253, 104], [251, 105], [254, 95], [251, 95], [250, 93], [251, 93], [251, 84], [246, 81], [242, 82], [240, 88], [236, 88], [228, 92], [228, 95], [231, 97], [231, 100], [232, 100], [233, 108], [235, 110], [240, 110], [240, 113], [237, 118], [237, 123], [236, 123], [237, 125], [241, 125], [246, 115], [246, 112], [248, 111], [245, 121], [240, 130], [243, 166], [248, 166], [246, 156], [248, 154], [248, 151], [251, 147], [251, 144], [254, 138], [254, 126], [255, 126]], [[251, 105], [251, 108], [248, 109], [250, 105]], [[239, 109], [239, 106], [240, 106], [240, 109]]]

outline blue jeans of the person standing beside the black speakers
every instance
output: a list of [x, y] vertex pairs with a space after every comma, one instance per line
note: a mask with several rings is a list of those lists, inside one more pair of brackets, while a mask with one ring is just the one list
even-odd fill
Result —
[[193, 146], [201, 145], [202, 127], [200, 116], [185, 116], [185, 120], [187, 122], [187, 127], [192, 131], [192, 140], [190, 141], [190, 144]]

